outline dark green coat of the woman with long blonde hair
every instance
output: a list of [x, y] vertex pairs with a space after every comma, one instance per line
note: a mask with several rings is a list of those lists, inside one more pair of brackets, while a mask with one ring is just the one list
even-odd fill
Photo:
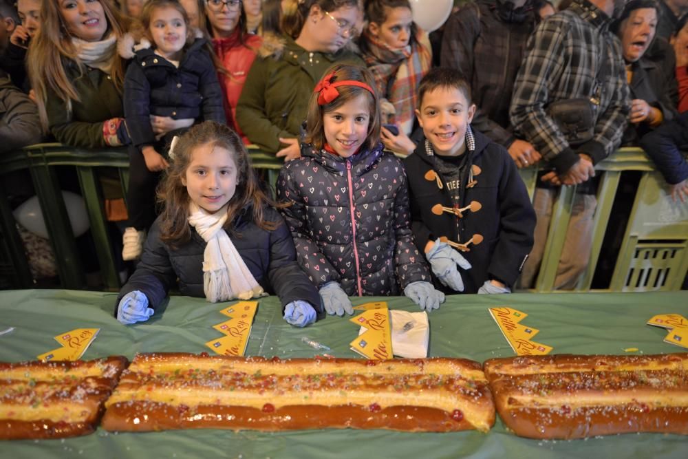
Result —
[[52, 89], [45, 100], [48, 128], [56, 140], [70, 147], [107, 147], [103, 138], [103, 122], [123, 118], [122, 93], [104, 72], [84, 67], [80, 74], [74, 61], [65, 61], [67, 78], [72, 81], [80, 102], [72, 100], [72, 111]]

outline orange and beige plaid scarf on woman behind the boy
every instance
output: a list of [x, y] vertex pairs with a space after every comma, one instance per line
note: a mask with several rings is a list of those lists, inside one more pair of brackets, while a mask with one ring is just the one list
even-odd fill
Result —
[[365, 49], [363, 59], [375, 77], [380, 96], [394, 105], [394, 121], [406, 134], [413, 128], [413, 110], [416, 109], [416, 89], [420, 78], [432, 64], [430, 41], [420, 28], [415, 39], [403, 50], [390, 50], [368, 30], [363, 32]]

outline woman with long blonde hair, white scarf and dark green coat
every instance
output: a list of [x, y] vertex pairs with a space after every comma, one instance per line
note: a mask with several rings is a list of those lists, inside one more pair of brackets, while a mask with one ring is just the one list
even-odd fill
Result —
[[73, 147], [129, 142], [122, 109], [125, 69], [116, 50], [126, 26], [109, 0], [45, 0], [28, 54], [41, 123]]

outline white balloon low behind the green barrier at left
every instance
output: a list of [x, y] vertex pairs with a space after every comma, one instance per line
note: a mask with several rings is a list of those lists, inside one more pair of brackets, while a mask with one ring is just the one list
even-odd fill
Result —
[[[83, 235], [91, 226], [83, 198], [71, 191], [63, 191], [62, 198], [65, 201], [65, 207], [67, 207], [67, 214], [69, 215], [69, 222], [72, 224], [74, 237]], [[14, 220], [17, 220], [21, 226], [37, 236], [50, 239], [45, 227], [45, 219], [43, 218], [38, 196], [23, 202], [17, 209], [14, 209], [13, 214]]]

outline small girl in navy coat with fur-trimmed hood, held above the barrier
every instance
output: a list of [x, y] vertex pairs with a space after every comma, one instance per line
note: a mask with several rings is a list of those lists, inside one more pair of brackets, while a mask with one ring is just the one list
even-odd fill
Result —
[[[140, 44], [134, 46], [136, 38]], [[124, 88], [131, 145], [130, 226], [123, 237], [122, 258], [133, 260], [140, 257], [145, 231], [157, 215], [155, 186], [168, 166], [169, 140], [195, 122], [224, 124], [226, 119], [210, 44], [194, 36], [178, 1], [149, 0], [134, 31], [120, 41], [119, 51], [132, 59]]]

